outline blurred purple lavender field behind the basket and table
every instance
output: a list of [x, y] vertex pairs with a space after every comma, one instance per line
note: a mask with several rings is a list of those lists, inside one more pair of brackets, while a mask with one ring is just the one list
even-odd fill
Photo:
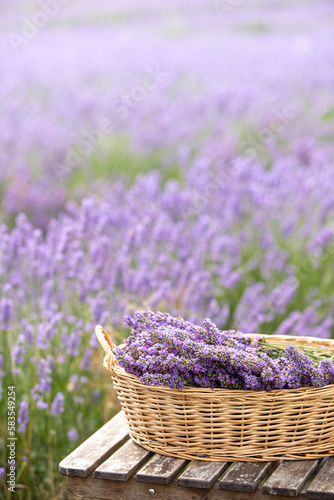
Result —
[[333, 336], [333, 28], [330, 0], [2, 1], [1, 497], [73, 498], [59, 461], [118, 409], [96, 324]]

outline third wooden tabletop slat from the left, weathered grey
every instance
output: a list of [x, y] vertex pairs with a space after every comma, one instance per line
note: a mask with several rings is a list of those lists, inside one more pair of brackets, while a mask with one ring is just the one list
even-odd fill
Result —
[[187, 460], [157, 454], [137, 473], [137, 481], [169, 484], [186, 465]]

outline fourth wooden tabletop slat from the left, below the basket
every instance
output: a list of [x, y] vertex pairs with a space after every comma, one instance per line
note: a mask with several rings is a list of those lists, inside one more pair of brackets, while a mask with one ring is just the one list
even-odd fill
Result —
[[228, 462], [206, 462], [193, 460], [189, 467], [178, 477], [179, 486], [210, 489], [219, 476], [229, 466]]

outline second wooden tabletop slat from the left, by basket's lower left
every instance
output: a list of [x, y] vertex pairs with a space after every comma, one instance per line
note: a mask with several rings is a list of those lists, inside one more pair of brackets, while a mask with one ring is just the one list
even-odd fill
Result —
[[100, 479], [127, 481], [151, 456], [150, 451], [130, 439], [103, 462], [94, 475]]

